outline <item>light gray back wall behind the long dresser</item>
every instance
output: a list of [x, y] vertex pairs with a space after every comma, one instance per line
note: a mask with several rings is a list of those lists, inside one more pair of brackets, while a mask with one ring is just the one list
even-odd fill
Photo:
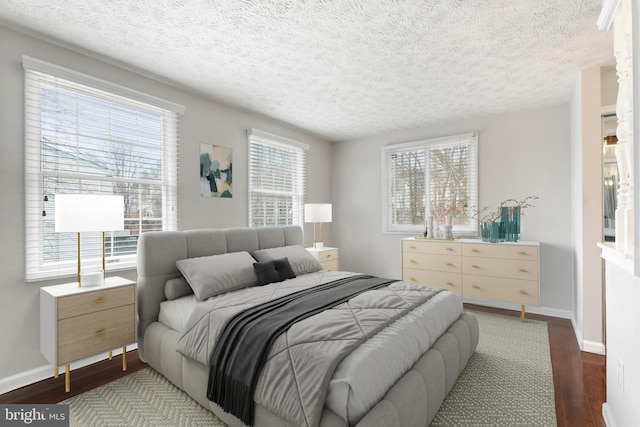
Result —
[[337, 144], [333, 152], [332, 226], [335, 245], [341, 251], [341, 269], [390, 278], [402, 275], [400, 239], [407, 235], [382, 233], [381, 147], [479, 131], [480, 206], [532, 194], [540, 197], [536, 207], [522, 218], [522, 240], [541, 242], [540, 302], [544, 312], [571, 317], [570, 121], [570, 106], [564, 104]]

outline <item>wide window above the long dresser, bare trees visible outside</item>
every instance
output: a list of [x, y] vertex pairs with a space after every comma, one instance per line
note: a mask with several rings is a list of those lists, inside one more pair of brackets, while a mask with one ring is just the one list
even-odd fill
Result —
[[387, 145], [382, 152], [383, 231], [422, 233], [426, 216], [444, 224], [451, 215], [455, 235], [477, 235], [470, 218], [478, 204], [477, 133]]

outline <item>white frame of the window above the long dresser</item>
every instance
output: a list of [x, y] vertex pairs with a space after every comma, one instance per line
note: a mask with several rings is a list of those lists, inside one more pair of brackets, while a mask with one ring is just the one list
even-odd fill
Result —
[[388, 144], [382, 147], [382, 232], [384, 234], [423, 234], [425, 231], [424, 222], [419, 225], [410, 224], [398, 224], [393, 222], [392, 210], [393, 210], [393, 180], [392, 180], [392, 165], [389, 162], [390, 156], [393, 153], [404, 153], [411, 151], [425, 151], [424, 154], [424, 212], [431, 211], [431, 197], [429, 197], [430, 183], [429, 183], [429, 159], [428, 151], [430, 149], [456, 147], [462, 144], [468, 144], [469, 158], [472, 160], [473, 165], [469, 167], [469, 174], [467, 180], [467, 188], [471, 196], [466, 204], [467, 215], [469, 216], [468, 223], [464, 225], [454, 224], [453, 234], [454, 236], [478, 236], [478, 221], [472, 219], [471, 209], [473, 206], [478, 205], [478, 133], [469, 132], [458, 135], [451, 135], [439, 138], [422, 139], [418, 141], [405, 142], [399, 144]]

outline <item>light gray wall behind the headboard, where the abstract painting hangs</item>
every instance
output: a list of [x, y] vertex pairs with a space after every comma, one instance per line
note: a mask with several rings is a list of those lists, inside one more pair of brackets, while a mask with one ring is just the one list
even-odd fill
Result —
[[[225, 107], [195, 93], [161, 83], [93, 57], [64, 49], [0, 26], [0, 389], [8, 377], [46, 365], [39, 348], [39, 288], [54, 283], [25, 283], [24, 234], [24, 77], [22, 55], [90, 74], [151, 95], [182, 104], [178, 211], [181, 229], [246, 226], [246, 129], [255, 127], [311, 145], [307, 199], [330, 201], [328, 173], [331, 144], [263, 116]], [[234, 195], [208, 199], [199, 195], [199, 142], [233, 148]], [[306, 227], [305, 240], [312, 234]], [[330, 229], [325, 230], [330, 241]], [[136, 278], [135, 271], [119, 272]], [[47, 372], [52, 373], [53, 370]]]

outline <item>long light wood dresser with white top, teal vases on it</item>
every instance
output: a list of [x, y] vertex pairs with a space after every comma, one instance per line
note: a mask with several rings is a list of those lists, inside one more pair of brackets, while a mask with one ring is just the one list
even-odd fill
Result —
[[494, 301], [540, 305], [538, 242], [402, 240], [402, 280]]

